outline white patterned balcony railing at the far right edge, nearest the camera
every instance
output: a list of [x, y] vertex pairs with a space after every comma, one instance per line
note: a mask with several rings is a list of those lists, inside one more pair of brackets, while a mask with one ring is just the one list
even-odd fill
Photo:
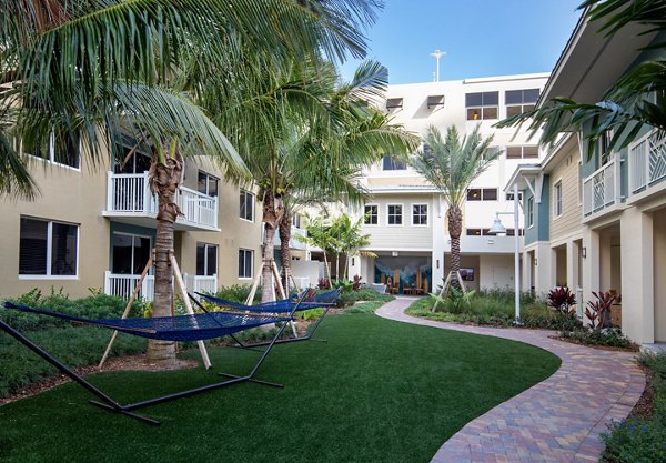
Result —
[[655, 130], [629, 145], [629, 194], [666, 178], [666, 134]]

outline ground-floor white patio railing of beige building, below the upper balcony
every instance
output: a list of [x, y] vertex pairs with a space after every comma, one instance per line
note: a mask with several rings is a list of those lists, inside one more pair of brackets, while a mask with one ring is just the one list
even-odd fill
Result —
[[[104, 294], [130, 299], [140, 278], [140, 275], [117, 274], [107, 271], [104, 272]], [[214, 293], [218, 291], [218, 275], [203, 276], [183, 274], [183, 280], [185, 282], [185, 288], [190, 293]], [[153, 275], [147, 275], [141, 282], [141, 289], [139, 290], [138, 296], [144, 301], [152, 301], [154, 299], [154, 290], [155, 278]]]

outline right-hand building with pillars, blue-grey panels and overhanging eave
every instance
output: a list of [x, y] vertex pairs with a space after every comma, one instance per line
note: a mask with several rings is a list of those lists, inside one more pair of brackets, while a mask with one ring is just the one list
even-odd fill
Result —
[[[606, 38], [599, 24], [577, 24], [539, 104], [554, 97], [595, 103], [663, 41], [638, 34], [639, 26]], [[585, 129], [584, 129], [585, 130]], [[593, 292], [622, 295], [615, 322], [635, 342], [666, 342], [666, 143], [640, 128], [626, 149], [609, 150], [603, 137], [588, 151], [585, 133], [566, 133], [541, 163], [516, 169], [525, 197], [523, 289], [544, 293], [556, 285], [577, 289], [582, 310]]]

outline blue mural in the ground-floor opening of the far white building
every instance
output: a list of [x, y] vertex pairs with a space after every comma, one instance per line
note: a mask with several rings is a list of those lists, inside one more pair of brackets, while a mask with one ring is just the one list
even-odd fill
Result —
[[[400, 280], [396, 282], [396, 280]], [[398, 256], [375, 259], [375, 283], [424, 288], [432, 291], [432, 263], [426, 256]]]

